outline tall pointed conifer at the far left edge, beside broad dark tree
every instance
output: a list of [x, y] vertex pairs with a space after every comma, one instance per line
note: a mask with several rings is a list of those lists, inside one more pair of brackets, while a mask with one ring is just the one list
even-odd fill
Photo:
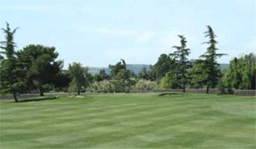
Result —
[[13, 31], [9, 23], [6, 22], [6, 28], [2, 28], [5, 34], [5, 40], [1, 41], [0, 48], [3, 49], [0, 54], [0, 90], [2, 93], [12, 93], [15, 102], [18, 102], [17, 93], [23, 85], [23, 78], [20, 76], [21, 68], [18, 67], [15, 52], [16, 44], [13, 37], [18, 28]]

